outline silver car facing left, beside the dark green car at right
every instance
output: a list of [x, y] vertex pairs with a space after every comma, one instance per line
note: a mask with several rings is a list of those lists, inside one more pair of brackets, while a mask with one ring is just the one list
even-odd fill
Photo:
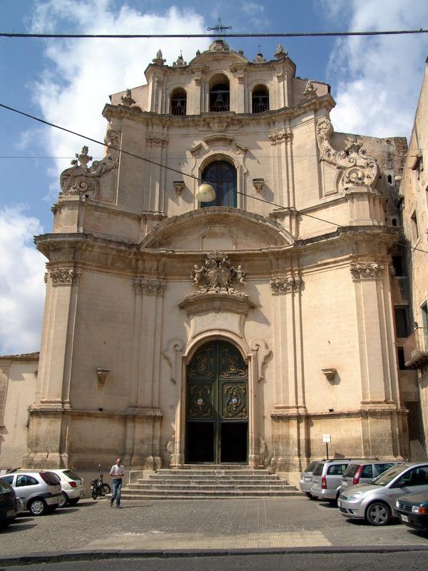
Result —
[[395, 502], [410, 492], [428, 492], [428, 462], [403, 463], [372, 480], [342, 492], [337, 502], [343, 516], [387, 525], [397, 515]]

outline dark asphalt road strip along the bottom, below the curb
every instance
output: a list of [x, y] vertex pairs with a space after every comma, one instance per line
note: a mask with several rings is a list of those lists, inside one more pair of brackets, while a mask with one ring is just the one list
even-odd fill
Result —
[[[1, 569], [4, 569], [2, 567]], [[8, 567], [15, 571], [402, 571], [426, 570], [427, 552], [345, 553], [325, 555], [238, 555], [64, 562]]]

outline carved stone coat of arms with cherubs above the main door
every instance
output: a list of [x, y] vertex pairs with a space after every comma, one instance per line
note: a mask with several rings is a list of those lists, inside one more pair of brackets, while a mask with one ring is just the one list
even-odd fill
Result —
[[234, 268], [228, 261], [228, 255], [218, 250], [208, 252], [205, 263], [202, 266], [195, 264], [190, 273], [193, 285], [197, 291], [188, 293], [187, 297], [204, 293], [227, 293], [241, 298], [248, 298], [248, 294], [235, 290], [233, 282], [245, 285], [245, 270], [239, 265]]

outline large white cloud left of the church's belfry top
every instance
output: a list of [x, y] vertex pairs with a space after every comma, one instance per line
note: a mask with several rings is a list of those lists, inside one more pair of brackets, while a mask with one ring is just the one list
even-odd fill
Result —
[[[36, 5], [34, 32], [78, 31], [81, 34], [203, 34], [202, 16], [191, 9], [170, 7], [163, 14], [142, 14], [126, 4], [115, 9], [111, 0], [47, 0]], [[94, 16], [96, 14], [96, 17]], [[144, 69], [159, 48], [167, 64], [180, 50], [189, 61], [204, 39], [69, 39], [46, 41], [46, 69], [34, 85], [34, 99], [44, 118], [92, 138], [103, 140], [106, 120], [101, 116], [108, 95], [146, 83]], [[74, 156], [83, 139], [54, 128], [46, 131], [46, 150], [54, 156]], [[101, 146], [88, 143], [92, 156]], [[51, 171], [54, 183], [50, 198], [58, 193], [58, 173], [70, 161], [57, 161]]]

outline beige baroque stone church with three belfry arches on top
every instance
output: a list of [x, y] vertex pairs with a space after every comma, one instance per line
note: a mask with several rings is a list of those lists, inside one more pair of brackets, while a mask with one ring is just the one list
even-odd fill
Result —
[[106, 155], [76, 154], [36, 236], [49, 263], [23, 465], [291, 475], [326, 434], [331, 455], [409, 457], [405, 140], [335, 132], [330, 86], [282, 46], [251, 61], [216, 39], [145, 74], [111, 96]]

